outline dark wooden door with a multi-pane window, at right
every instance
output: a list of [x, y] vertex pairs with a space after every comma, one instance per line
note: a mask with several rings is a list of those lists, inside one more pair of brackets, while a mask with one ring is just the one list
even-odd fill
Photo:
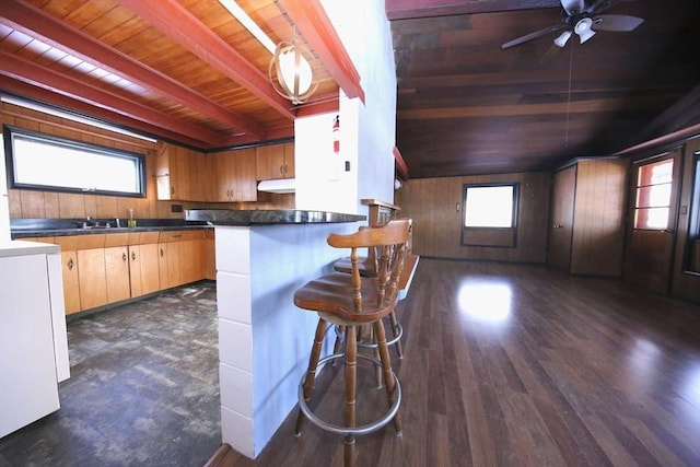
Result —
[[623, 277], [668, 294], [676, 242], [680, 150], [632, 164]]

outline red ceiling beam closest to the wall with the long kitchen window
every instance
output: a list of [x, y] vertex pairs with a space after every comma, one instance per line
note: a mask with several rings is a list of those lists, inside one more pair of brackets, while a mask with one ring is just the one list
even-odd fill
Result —
[[42, 104], [52, 105], [63, 112], [70, 112], [88, 119], [95, 119], [100, 122], [114, 125], [126, 130], [130, 130], [155, 139], [178, 141], [192, 148], [200, 148], [202, 142], [179, 132], [170, 131], [143, 120], [135, 120], [125, 115], [116, 114], [106, 108], [95, 107], [85, 102], [77, 101], [67, 95], [58, 94], [50, 90], [35, 86], [33, 84], [18, 81], [10, 77], [0, 74], [0, 90], [15, 96], [30, 98]]

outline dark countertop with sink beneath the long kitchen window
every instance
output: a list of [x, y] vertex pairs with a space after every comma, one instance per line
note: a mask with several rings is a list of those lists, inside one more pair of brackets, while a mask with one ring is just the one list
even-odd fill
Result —
[[[112, 220], [114, 221], [114, 220]], [[163, 232], [189, 229], [211, 229], [206, 222], [187, 222], [180, 219], [140, 219], [136, 227], [105, 227], [107, 220], [97, 220], [100, 227], [81, 227], [82, 219], [12, 219], [13, 240], [37, 236], [91, 235], [129, 232]], [[126, 220], [121, 220], [126, 223]]]

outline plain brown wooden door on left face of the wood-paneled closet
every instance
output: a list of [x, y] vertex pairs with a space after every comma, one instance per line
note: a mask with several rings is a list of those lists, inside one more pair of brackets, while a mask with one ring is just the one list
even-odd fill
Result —
[[575, 165], [555, 173], [551, 184], [547, 264], [565, 271], [571, 267], [575, 190]]

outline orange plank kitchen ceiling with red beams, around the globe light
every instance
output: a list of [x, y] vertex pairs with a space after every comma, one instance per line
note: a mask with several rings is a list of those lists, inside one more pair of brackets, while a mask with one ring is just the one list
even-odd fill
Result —
[[238, 0], [275, 44], [314, 55], [318, 89], [293, 106], [271, 54], [217, 0], [1, 0], [0, 90], [197, 149], [293, 137], [298, 116], [363, 96], [316, 0]]

